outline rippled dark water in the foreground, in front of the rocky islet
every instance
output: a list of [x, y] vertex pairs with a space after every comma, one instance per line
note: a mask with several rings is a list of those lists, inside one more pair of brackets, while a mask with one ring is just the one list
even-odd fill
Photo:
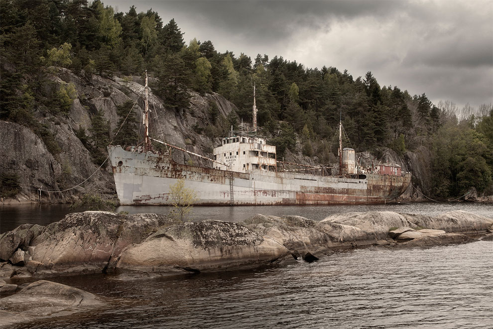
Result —
[[256, 271], [58, 278], [98, 310], [13, 328], [493, 328], [493, 242], [353, 250]]

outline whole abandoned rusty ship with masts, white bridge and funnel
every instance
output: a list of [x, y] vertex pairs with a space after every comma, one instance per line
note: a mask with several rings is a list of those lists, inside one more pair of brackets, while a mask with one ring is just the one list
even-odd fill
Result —
[[[204, 167], [174, 162], [170, 150], [187, 150], [149, 137], [148, 86], [145, 80], [145, 108], [142, 114], [142, 146], [108, 147], [117, 194], [122, 205], [171, 205], [170, 185], [183, 179], [196, 192], [196, 205], [305, 205], [384, 203], [401, 195], [411, 180], [398, 165], [361, 168], [355, 151], [342, 148], [339, 124], [339, 166], [300, 165], [284, 170], [276, 158], [275, 146], [256, 133], [253, 96], [253, 131], [231, 131], [214, 148], [213, 165]], [[166, 145], [167, 152], [152, 150], [151, 140]], [[292, 164], [290, 164], [292, 165]], [[335, 169], [337, 174], [332, 174]], [[310, 170], [312, 173], [302, 173]]]

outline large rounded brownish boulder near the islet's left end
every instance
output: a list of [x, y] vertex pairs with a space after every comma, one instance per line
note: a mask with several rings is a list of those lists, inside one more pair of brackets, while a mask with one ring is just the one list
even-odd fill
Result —
[[112, 260], [127, 245], [139, 243], [150, 233], [173, 221], [164, 215], [118, 215], [112, 212], [86, 211], [68, 214], [46, 226], [32, 245], [29, 272], [95, 273], [108, 270]]

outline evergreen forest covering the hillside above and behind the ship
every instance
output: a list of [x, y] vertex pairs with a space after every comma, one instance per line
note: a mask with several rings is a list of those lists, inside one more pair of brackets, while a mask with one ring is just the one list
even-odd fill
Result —
[[[492, 104], [478, 109], [432, 104], [425, 91], [410, 95], [396, 85], [380, 86], [371, 72], [353, 77], [330, 63], [307, 68], [280, 54], [251, 58], [219, 52], [211, 40], [184, 40], [173, 18], [152, 9], [115, 12], [100, 0], [0, 0], [0, 13], [0, 119], [29, 127], [53, 154], [53, 133], [34, 113], [68, 115], [75, 96], [70, 84], [56, 92], [44, 88], [50, 70], [106, 77], [147, 70], [159, 81], [151, 87], [167, 110], [186, 111], [190, 91], [215, 92], [237, 106], [236, 117], [229, 118], [234, 125], [251, 123], [255, 85], [260, 131], [279, 156], [298, 144], [304, 156], [334, 162], [332, 141], [342, 118], [356, 151], [390, 148], [405, 157], [407, 151], [430, 150], [431, 196], [454, 197], [471, 186], [493, 194]], [[128, 106], [119, 111], [126, 113]], [[96, 119], [90, 133], [101, 141], [108, 128]], [[77, 136], [90, 149], [91, 137]]]

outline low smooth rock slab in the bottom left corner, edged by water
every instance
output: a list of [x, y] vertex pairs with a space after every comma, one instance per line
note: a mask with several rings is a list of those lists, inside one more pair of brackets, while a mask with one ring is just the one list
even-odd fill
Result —
[[36, 281], [19, 293], [0, 299], [0, 326], [29, 322], [82, 312], [99, 306], [102, 301], [83, 290], [51, 281]]

